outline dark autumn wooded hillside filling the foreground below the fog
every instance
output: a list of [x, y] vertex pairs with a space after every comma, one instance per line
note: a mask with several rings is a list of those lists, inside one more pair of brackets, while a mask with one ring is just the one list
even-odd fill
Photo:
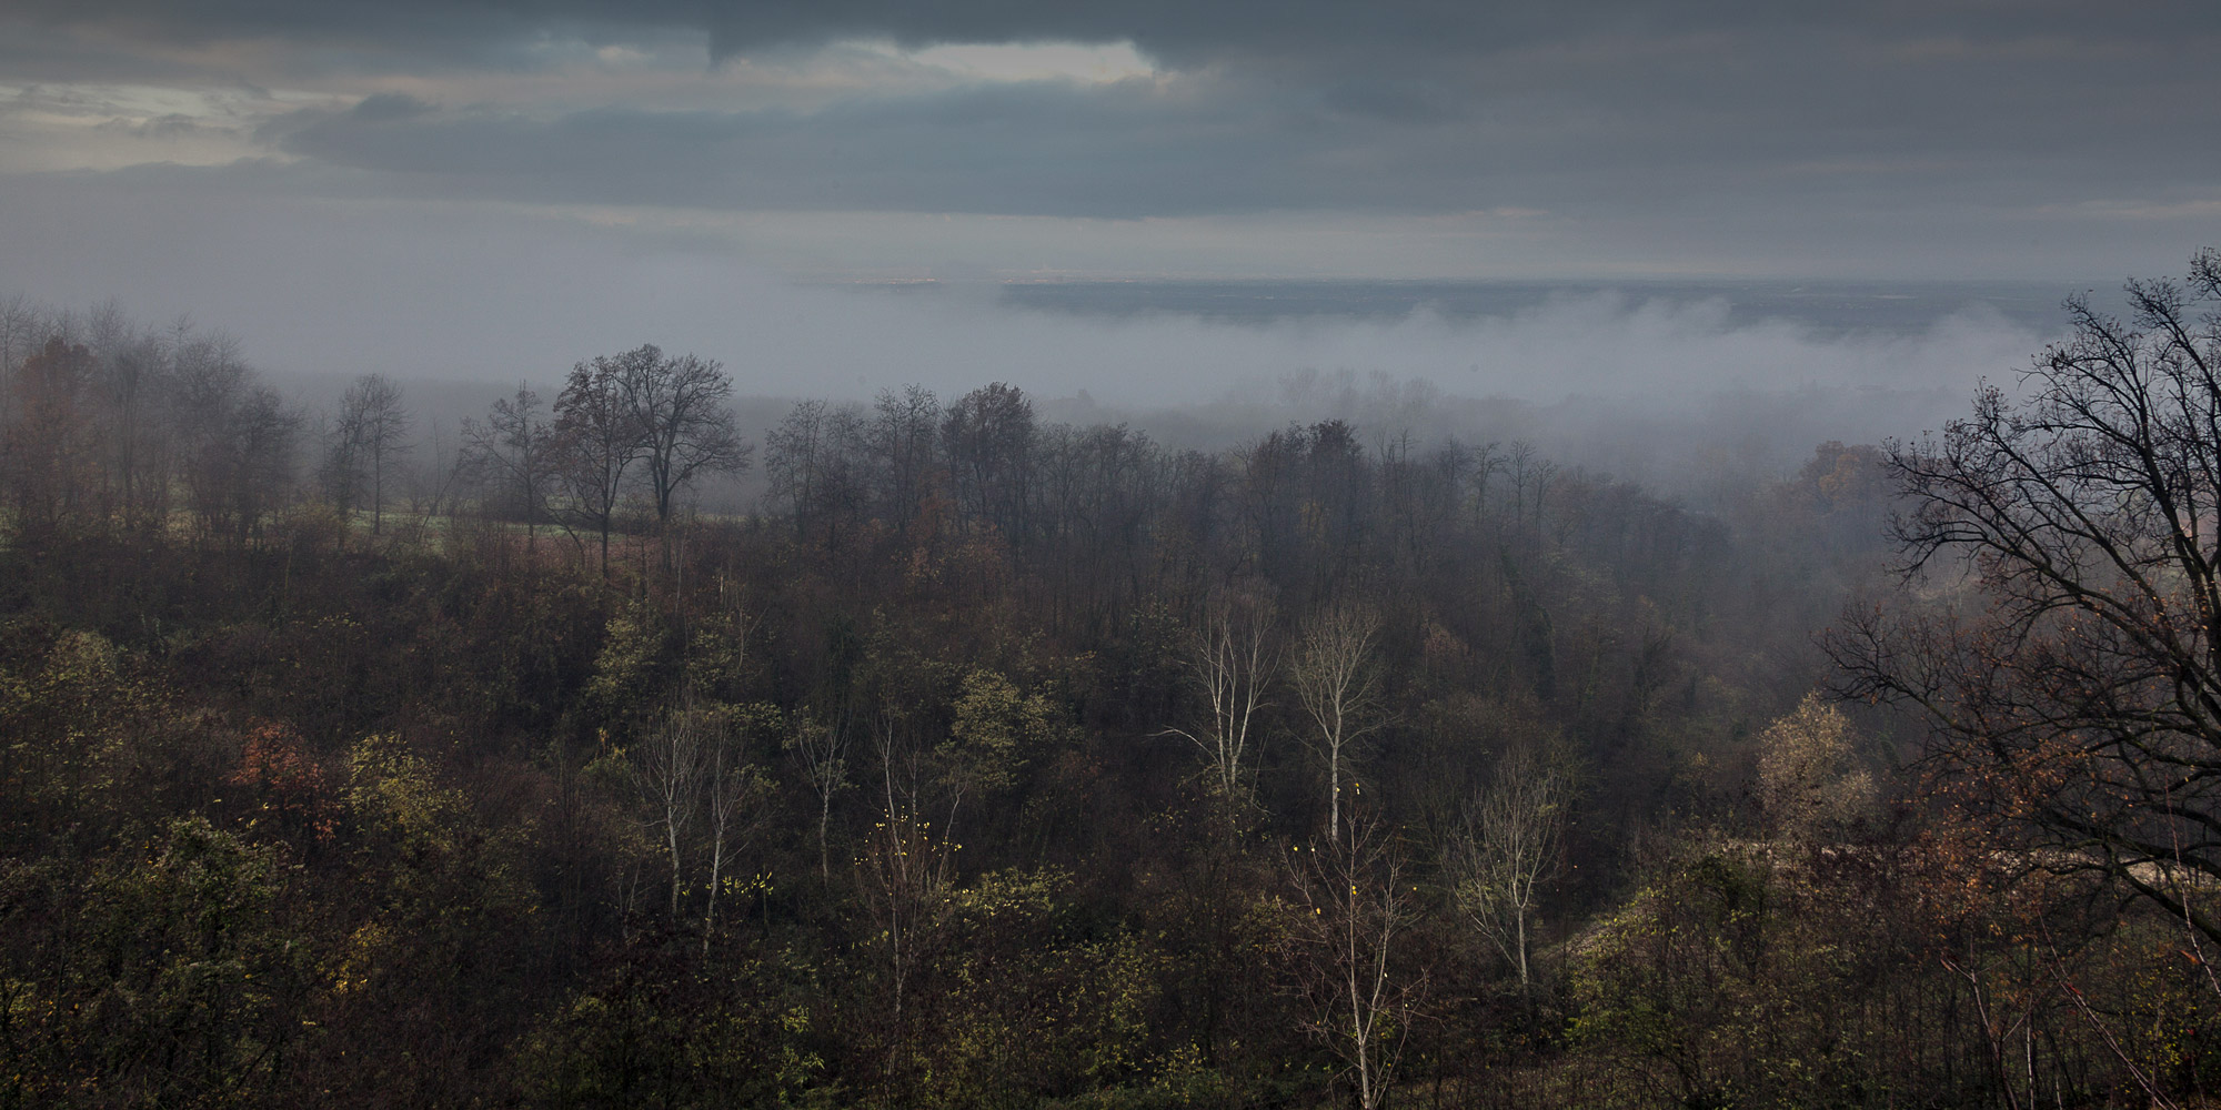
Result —
[[2205, 1106], [2221, 258], [2128, 300], [1706, 513], [993, 384], [689, 515], [751, 451], [642, 346], [406, 528], [389, 382], [18, 306], [0, 1097]]

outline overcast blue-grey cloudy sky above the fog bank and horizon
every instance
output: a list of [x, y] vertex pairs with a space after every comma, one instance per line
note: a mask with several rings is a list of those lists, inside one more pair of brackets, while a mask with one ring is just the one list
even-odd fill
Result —
[[0, 11], [11, 195], [500, 206], [791, 273], [2110, 275], [2221, 224], [2208, 0]]

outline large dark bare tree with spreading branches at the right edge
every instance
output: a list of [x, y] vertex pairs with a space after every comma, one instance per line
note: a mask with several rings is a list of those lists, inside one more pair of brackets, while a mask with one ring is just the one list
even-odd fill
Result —
[[2125, 293], [2130, 320], [2068, 302], [2026, 400], [1986, 386], [1941, 440], [1890, 444], [1908, 577], [1957, 562], [1981, 604], [1908, 591], [1828, 648], [1843, 693], [1934, 726], [1928, 766], [1999, 828], [2221, 939], [2165, 881], [2221, 879], [2221, 251]]

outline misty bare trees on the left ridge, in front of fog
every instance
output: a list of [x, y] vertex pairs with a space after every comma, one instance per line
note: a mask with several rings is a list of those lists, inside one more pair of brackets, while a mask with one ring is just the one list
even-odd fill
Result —
[[[664, 528], [693, 482], [748, 464], [731, 391], [717, 362], [655, 346], [580, 362], [551, 417], [520, 386], [466, 422], [431, 506], [480, 491], [526, 539], [551, 522], [595, 533], [606, 564], [631, 497]], [[184, 320], [147, 329], [115, 306], [0, 302], [0, 480], [24, 535], [184, 519], [247, 544], [302, 495], [342, 519], [366, 513], [380, 535], [415, 426], [402, 389], [378, 373], [353, 380], [333, 411], [309, 413], [269, 389], [229, 335]]]

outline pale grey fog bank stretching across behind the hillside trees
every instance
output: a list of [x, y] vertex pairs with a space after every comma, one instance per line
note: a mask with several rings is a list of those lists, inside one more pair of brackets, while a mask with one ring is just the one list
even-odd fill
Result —
[[[1011, 382], [1046, 420], [1128, 422], [1170, 446], [1341, 417], [1375, 444], [1524, 440], [1701, 502], [1823, 440], [1939, 428], [1977, 380], [2010, 389], [2050, 337], [1979, 297], [1926, 324], [1877, 311], [1857, 326], [1752, 317], [1704, 282], [1568, 289], [1481, 315], [1073, 313], [1013, 302], [1002, 282], [797, 284], [744, 262], [744, 240], [622, 220], [271, 198], [118, 209], [64, 191], [0, 209], [22, 215], [0, 222], [0, 258], [40, 260], [0, 273], [0, 291], [222, 329], [311, 411], [382, 373], [426, 453], [517, 382], [553, 400], [573, 362], [653, 342], [724, 362], [755, 442], [797, 397], [868, 404], [915, 382], [955, 400]], [[751, 486], [715, 500], [742, 504]]]

